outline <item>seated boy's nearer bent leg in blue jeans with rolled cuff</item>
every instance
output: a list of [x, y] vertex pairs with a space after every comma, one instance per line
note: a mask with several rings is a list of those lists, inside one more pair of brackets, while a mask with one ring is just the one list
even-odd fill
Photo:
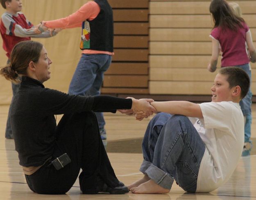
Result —
[[154, 158], [145, 171], [154, 182], [170, 189], [173, 178], [186, 191], [195, 192], [205, 145], [185, 116], [172, 116], [163, 126]]

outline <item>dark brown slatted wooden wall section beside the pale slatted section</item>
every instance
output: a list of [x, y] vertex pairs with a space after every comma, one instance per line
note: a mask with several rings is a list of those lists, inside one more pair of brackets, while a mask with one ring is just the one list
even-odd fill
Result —
[[101, 92], [147, 94], [149, 0], [109, 0], [114, 18], [114, 53]]

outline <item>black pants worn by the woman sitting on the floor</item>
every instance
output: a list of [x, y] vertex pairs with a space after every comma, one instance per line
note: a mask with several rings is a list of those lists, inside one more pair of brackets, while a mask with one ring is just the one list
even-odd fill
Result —
[[[51, 148], [51, 147], [50, 147]], [[67, 153], [71, 162], [56, 170], [50, 161]], [[97, 118], [91, 111], [65, 114], [56, 129], [52, 159], [30, 176], [25, 175], [29, 188], [41, 194], [63, 194], [70, 190], [79, 175], [83, 193], [97, 193], [97, 186], [119, 183], [102, 143]]]

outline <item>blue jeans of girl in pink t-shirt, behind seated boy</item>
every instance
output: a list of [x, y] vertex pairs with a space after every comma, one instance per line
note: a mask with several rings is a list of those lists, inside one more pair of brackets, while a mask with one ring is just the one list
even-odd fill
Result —
[[[251, 80], [251, 70], [249, 69], [249, 64], [237, 65], [236, 67], [242, 68], [250, 77]], [[240, 107], [242, 109], [242, 113], [245, 116], [245, 142], [251, 142], [251, 87], [245, 96], [240, 101]]]

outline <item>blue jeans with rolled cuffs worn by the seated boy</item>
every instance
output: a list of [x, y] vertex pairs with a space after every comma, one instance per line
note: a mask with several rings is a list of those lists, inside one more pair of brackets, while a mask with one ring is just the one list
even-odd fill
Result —
[[140, 171], [165, 189], [175, 180], [185, 191], [195, 192], [205, 148], [187, 117], [158, 113], [143, 138]]

